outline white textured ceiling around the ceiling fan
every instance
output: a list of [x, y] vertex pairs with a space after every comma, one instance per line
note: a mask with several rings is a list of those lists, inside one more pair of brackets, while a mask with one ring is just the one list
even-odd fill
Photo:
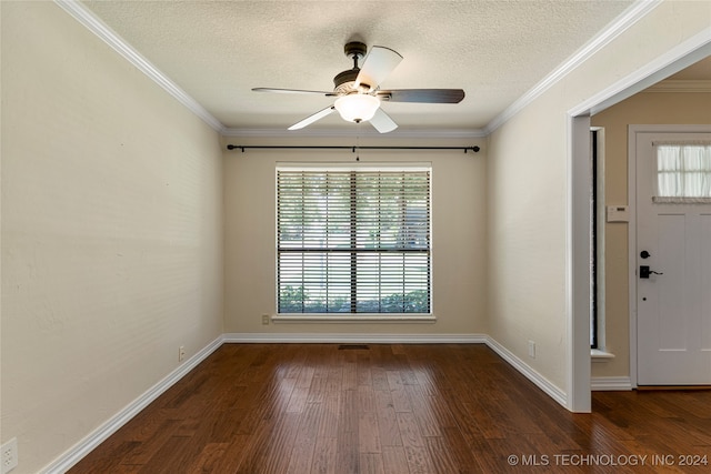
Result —
[[[332, 99], [360, 40], [404, 57], [384, 89], [461, 88], [452, 104], [384, 103], [402, 130], [483, 129], [632, 4], [527, 1], [86, 1], [128, 44], [230, 129], [284, 130]], [[332, 114], [310, 129], [354, 127]]]

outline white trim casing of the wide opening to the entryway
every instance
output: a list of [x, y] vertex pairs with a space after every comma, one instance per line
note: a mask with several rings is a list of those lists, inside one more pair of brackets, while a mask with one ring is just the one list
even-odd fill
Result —
[[[592, 177], [587, 167], [590, 158], [590, 115], [641, 92], [709, 56], [711, 56], [711, 28], [677, 44], [568, 111], [565, 342], [569, 352], [565, 361], [568, 389], [565, 406], [571, 412], [589, 413], [591, 411], [588, 253], [590, 212], [587, 206], [587, 190], [592, 183]], [[630, 209], [631, 215], [634, 212], [635, 210]], [[630, 357], [632, 353], [632, 346], [630, 346]], [[634, 354], [637, 354], [637, 340]], [[630, 366], [630, 380], [632, 387], [637, 387], [637, 362]]]

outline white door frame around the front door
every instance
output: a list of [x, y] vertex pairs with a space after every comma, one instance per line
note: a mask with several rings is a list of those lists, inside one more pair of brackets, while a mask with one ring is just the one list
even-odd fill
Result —
[[637, 138], [641, 133], [711, 133], [711, 124], [702, 125], [628, 125], [628, 203], [630, 209], [630, 222], [628, 229], [628, 289], [629, 289], [629, 317], [630, 317], [630, 383], [637, 389], [637, 361], [638, 361], [638, 334], [637, 334]]

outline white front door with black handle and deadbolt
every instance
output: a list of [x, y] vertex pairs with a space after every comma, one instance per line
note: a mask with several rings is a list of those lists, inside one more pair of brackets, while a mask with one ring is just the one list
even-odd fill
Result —
[[711, 133], [635, 137], [638, 385], [711, 385], [711, 202], [653, 200], [658, 143]]

